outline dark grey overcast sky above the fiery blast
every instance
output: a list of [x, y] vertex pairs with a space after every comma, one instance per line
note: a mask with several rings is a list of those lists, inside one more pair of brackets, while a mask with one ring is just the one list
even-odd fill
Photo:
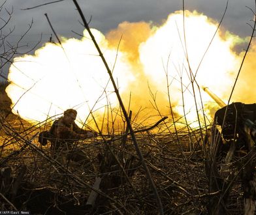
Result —
[[[25, 32], [31, 20], [33, 20], [33, 26], [24, 38], [22, 45], [32, 47], [39, 41], [41, 34], [41, 41], [47, 42], [52, 30], [46, 20], [46, 16], [44, 16], [45, 13], [48, 14], [50, 22], [58, 35], [68, 38], [79, 37], [72, 33], [72, 31], [78, 33], [83, 31], [83, 27], [79, 23], [79, 14], [75, 10], [72, 0], [64, 0], [31, 10], [23, 10], [52, 1], [7, 0], [4, 7], [8, 11], [13, 8], [8, 28], [15, 27], [12, 35], [8, 36], [8, 42], [16, 42], [19, 36]], [[214, 20], [221, 19], [227, 3], [223, 0], [188, 0], [184, 2], [185, 9], [197, 10]], [[168, 14], [176, 10], [182, 10], [182, 1], [180, 0], [78, 0], [78, 3], [86, 18], [89, 20], [91, 17], [90, 26], [103, 33], [107, 33], [110, 29], [115, 29], [119, 23], [124, 21], [145, 21], [160, 25]], [[255, 1], [252, 0], [230, 0], [222, 26], [239, 36], [250, 35], [251, 28], [246, 23], [253, 18], [249, 8], [255, 8], [254, 4]], [[6, 12], [1, 12], [0, 16], [1, 18], [6, 17], [7, 14]], [[29, 50], [29, 47], [26, 47], [27, 50]], [[4, 71], [4, 73], [7, 72]]]

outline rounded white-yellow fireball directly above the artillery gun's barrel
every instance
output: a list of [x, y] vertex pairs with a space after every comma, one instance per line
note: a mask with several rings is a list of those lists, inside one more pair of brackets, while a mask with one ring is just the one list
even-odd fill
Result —
[[[189, 121], [195, 121], [197, 113], [191, 86], [192, 77], [196, 74], [197, 83], [194, 82], [194, 89], [198, 109], [201, 109], [197, 84], [206, 85], [225, 98], [224, 94], [231, 91], [234, 81], [231, 73], [237, 70], [240, 61], [231, 51], [232, 38], [225, 40], [219, 36], [219, 33], [204, 56], [217, 29], [216, 23], [210, 22], [206, 16], [197, 12], [185, 12], [185, 39], [183, 26], [182, 12], [168, 16], [167, 22], [159, 27], [147, 42], [140, 45], [140, 61], [143, 63], [146, 74], [157, 83], [159, 91], [167, 89], [167, 78], [163, 70], [168, 72], [169, 82], [172, 82], [170, 98], [180, 114], [184, 113], [181, 93], [182, 77], [183, 89], [187, 88], [184, 93], [185, 113]], [[186, 51], [193, 76], [189, 73]], [[204, 59], [200, 64], [203, 56]], [[209, 96], [204, 92], [202, 92], [202, 100], [204, 102], [209, 100]]]

